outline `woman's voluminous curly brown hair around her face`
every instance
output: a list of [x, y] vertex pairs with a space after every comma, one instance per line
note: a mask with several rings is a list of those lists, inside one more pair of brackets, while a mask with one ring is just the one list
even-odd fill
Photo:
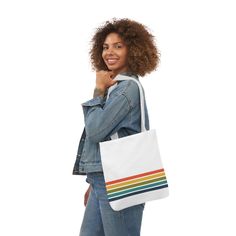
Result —
[[129, 72], [144, 76], [157, 68], [160, 53], [155, 45], [154, 36], [147, 27], [130, 19], [106, 21], [93, 36], [90, 58], [94, 70], [108, 70], [103, 58], [103, 43], [110, 33], [117, 33], [128, 48], [127, 67]]

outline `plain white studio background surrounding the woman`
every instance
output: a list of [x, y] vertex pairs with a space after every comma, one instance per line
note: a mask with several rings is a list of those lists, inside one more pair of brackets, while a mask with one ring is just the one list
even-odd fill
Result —
[[89, 42], [112, 17], [147, 25], [161, 51], [141, 82], [170, 196], [146, 204], [142, 235], [236, 235], [233, 2], [1, 1], [0, 235], [79, 234]]

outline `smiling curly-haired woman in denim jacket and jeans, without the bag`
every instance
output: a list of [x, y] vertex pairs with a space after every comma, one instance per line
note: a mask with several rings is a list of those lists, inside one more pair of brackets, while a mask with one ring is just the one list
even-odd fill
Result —
[[[93, 99], [82, 104], [85, 128], [80, 139], [73, 174], [87, 175], [85, 213], [80, 236], [138, 236], [145, 204], [114, 211], [108, 202], [99, 142], [139, 133], [140, 103], [137, 84], [116, 81], [118, 74], [139, 80], [155, 70], [159, 53], [147, 28], [129, 19], [112, 20], [97, 29], [90, 51], [96, 70]], [[116, 87], [106, 100], [107, 90]], [[145, 102], [145, 126], [149, 129]]]

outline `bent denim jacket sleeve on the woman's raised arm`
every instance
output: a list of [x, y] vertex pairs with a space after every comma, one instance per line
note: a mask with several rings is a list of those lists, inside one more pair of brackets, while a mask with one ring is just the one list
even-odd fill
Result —
[[124, 92], [111, 92], [104, 104], [103, 97], [82, 103], [87, 139], [103, 141], [132, 109], [130, 99]]

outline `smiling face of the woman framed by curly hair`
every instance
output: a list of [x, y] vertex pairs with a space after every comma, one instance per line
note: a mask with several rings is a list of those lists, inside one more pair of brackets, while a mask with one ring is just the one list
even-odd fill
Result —
[[127, 46], [119, 34], [110, 33], [103, 43], [102, 58], [115, 74], [127, 71]]

